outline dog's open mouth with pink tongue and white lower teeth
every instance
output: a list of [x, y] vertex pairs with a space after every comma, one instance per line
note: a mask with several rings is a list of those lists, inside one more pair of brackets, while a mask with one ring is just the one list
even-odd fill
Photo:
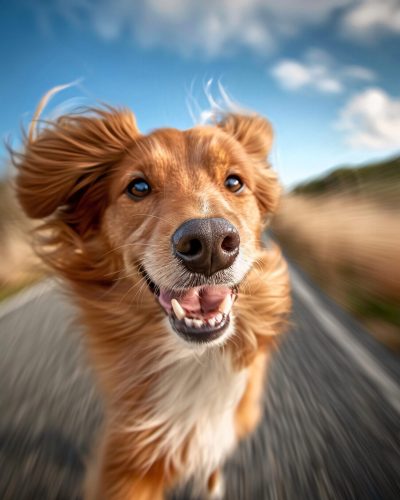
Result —
[[146, 281], [168, 315], [172, 328], [185, 340], [211, 342], [227, 330], [237, 297], [236, 287], [206, 285], [171, 291], [158, 289], [148, 275]]

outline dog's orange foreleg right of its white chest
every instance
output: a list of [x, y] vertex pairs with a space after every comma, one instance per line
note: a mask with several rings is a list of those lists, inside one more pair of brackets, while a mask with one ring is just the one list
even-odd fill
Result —
[[262, 417], [262, 395], [268, 354], [261, 351], [249, 366], [249, 379], [236, 410], [235, 424], [238, 438], [252, 432]]

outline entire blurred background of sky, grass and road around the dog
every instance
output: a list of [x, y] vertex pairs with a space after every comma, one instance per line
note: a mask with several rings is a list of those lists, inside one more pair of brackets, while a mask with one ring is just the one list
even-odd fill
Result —
[[45, 118], [107, 103], [143, 132], [185, 129], [228, 96], [274, 126], [284, 196], [272, 231], [293, 317], [226, 498], [400, 498], [400, 0], [0, 6], [0, 498], [80, 500], [102, 419], [6, 147], [21, 147], [43, 94], [71, 82]]

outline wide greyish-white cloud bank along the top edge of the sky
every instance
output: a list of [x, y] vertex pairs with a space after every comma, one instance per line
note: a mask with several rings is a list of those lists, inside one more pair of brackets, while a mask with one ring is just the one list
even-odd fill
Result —
[[91, 27], [104, 39], [130, 34], [144, 46], [214, 57], [241, 47], [271, 51], [281, 39], [322, 23], [352, 1], [56, 0], [47, 10]]

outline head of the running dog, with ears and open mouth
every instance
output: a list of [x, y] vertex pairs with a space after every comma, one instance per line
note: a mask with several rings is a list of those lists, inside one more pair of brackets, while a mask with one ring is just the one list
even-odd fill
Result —
[[126, 110], [68, 115], [16, 156], [17, 194], [69, 280], [141, 280], [174, 332], [218, 344], [277, 205], [271, 142], [258, 115], [148, 135]]

